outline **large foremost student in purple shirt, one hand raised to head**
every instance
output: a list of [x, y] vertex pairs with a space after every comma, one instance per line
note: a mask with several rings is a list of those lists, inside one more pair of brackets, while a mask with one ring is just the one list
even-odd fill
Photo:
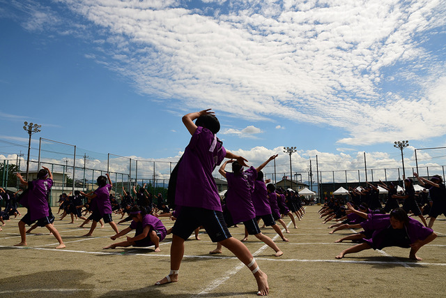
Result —
[[186, 114], [183, 124], [192, 137], [178, 163], [174, 203], [181, 206], [181, 212], [172, 230], [171, 271], [155, 285], [178, 281], [184, 242], [203, 225], [212, 241], [220, 242], [252, 271], [257, 295], [268, 295], [268, 276], [259, 269], [249, 249], [231, 236], [224, 223], [220, 196], [212, 176], [215, 166], [225, 157], [234, 158], [242, 165], [246, 165], [246, 159], [224, 149], [215, 135], [220, 131], [220, 123], [210, 109]]

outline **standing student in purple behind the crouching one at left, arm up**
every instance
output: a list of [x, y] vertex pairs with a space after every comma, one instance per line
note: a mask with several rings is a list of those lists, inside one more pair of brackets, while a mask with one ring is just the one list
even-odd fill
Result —
[[[109, 195], [110, 190], [112, 189], [112, 180], [110, 179], [109, 173], [106, 173], [107, 178], [104, 176], [98, 177], [96, 181], [98, 182], [98, 188], [93, 192], [93, 194], [87, 194], [84, 192], [80, 192], [81, 195], [84, 195], [86, 198], [91, 199], [91, 204], [93, 204], [92, 210], [93, 214], [91, 214], [91, 218], [93, 219], [93, 223], [91, 223], [91, 228], [88, 233], [84, 236], [91, 236], [93, 231], [98, 225], [98, 221], [102, 218], [104, 219], [104, 223], [109, 223], [112, 226], [112, 229], [118, 234], [118, 226], [114, 223], [112, 218], [112, 204], [110, 203]], [[108, 179], [108, 184], [107, 184]], [[83, 224], [82, 224], [83, 225]]]

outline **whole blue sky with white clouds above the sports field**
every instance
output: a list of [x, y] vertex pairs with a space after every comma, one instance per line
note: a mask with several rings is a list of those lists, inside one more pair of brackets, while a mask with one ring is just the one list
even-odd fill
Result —
[[213, 108], [254, 165], [296, 146], [300, 170], [398, 167], [395, 140], [413, 165], [446, 146], [445, 22], [432, 0], [0, 0], [0, 158], [32, 121], [34, 140], [176, 161], [180, 117]]

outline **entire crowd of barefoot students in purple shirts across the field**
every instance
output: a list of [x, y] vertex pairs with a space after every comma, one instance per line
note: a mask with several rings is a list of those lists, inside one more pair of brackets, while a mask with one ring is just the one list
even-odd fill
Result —
[[[195, 121], [195, 122], [194, 122]], [[282, 225], [286, 233], [289, 229], [282, 220], [289, 216], [294, 228], [297, 228], [295, 218], [300, 219], [305, 214], [302, 200], [297, 193], [291, 190], [276, 189], [270, 181], [263, 180], [261, 170], [277, 155], [271, 156], [258, 167], [248, 166], [248, 161], [243, 156], [227, 151], [216, 133], [220, 130], [220, 122], [214, 113], [209, 110], [192, 112], [183, 117], [183, 124], [191, 135], [183, 156], [171, 173], [169, 180], [168, 202], [158, 196], [157, 204], [153, 203], [151, 194], [146, 190], [146, 185], [132, 188], [132, 194], [123, 189], [123, 197], [118, 202], [111, 195], [112, 181], [108, 174], [97, 179], [98, 188], [90, 193], [75, 191], [74, 195], [63, 194], [59, 200], [62, 211], [60, 220], [70, 215], [71, 222], [81, 218], [83, 227], [92, 221], [91, 228], [84, 236], [93, 234], [97, 224], [109, 223], [115, 231], [111, 237], [113, 241], [135, 231], [134, 237], [127, 237], [125, 241], [114, 242], [104, 248], [116, 248], [119, 246], [155, 246], [155, 251], [160, 251], [160, 241], [167, 234], [172, 234], [170, 249], [170, 272], [161, 278], [155, 285], [162, 285], [178, 281], [178, 271], [183, 260], [185, 240], [198, 230], [203, 228], [217, 248], [210, 253], [222, 253], [225, 247], [243, 262], [252, 271], [257, 283], [257, 295], [268, 295], [268, 276], [263, 272], [252, 256], [246, 241], [249, 234], [254, 235], [260, 241], [270, 246], [275, 251], [275, 256], [283, 254], [279, 246], [259, 228], [262, 220], [266, 226], [271, 226], [281, 237], [282, 241], [289, 241], [284, 237], [282, 230], [276, 221]], [[228, 158], [224, 161], [224, 158]], [[224, 162], [223, 162], [224, 161]], [[222, 163], [223, 162], [223, 163]], [[217, 191], [213, 170], [220, 165], [219, 172], [228, 181], [228, 191], [224, 198], [220, 198]], [[226, 165], [231, 164], [231, 171], [226, 170]], [[46, 227], [56, 239], [59, 245], [56, 248], [65, 248], [61, 235], [54, 227], [54, 215], [49, 207], [48, 195], [52, 187], [52, 173], [47, 167], [38, 172], [35, 181], [24, 181], [20, 173], [17, 174], [26, 191], [16, 200], [14, 195], [8, 195], [8, 203], [2, 217], [14, 214], [17, 216], [17, 201], [27, 209], [27, 213], [20, 219], [19, 231], [21, 241], [17, 246], [25, 246], [26, 232], [33, 228]], [[347, 248], [339, 253], [336, 258], [343, 258], [347, 253], [356, 253], [368, 248], [381, 249], [386, 246], [410, 247], [410, 258], [420, 260], [415, 253], [433, 239], [436, 234], [431, 230], [435, 218], [440, 214], [446, 214], [445, 185], [440, 176], [432, 179], [419, 177], [420, 183], [429, 186], [429, 197], [433, 204], [429, 204], [430, 221], [429, 228], [424, 227], [419, 221], [408, 217], [412, 211], [415, 216], [420, 216], [424, 225], [427, 225], [422, 216], [422, 211], [416, 201], [416, 193], [413, 191], [413, 181], [405, 179], [406, 191], [398, 194], [394, 186], [386, 186], [389, 197], [385, 208], [380, 203], [378, 187], [369, 184], [361, 190], [351, 189], [350, 200], [345, 207], [337, 200], [329, 200], [319, 211], [325, 223], [337, 220], [339, 223], [331, 225], [335, 228], [332, 232], [345, 228], [363, 228], [364, 231], [344, 237], [346, 239], [361, 241], [360, 244]], [[5, 196], [0, 188], [2, 198]], [[419, 195], [419, 197], [422, 195]], [[403, 207], [399, 208], [398, 200], [403, 200]], [[385, 212], [390, 214], [385, 214]], [[8, 214], [8, 215], [6, 215]], [[86, 218], [86, 215], [89, 215]], [[127, 228], [118, 230], [112, 216], [121, 215], [121, 221], [132, 221]], [[174, 227], [167, 230], [160, 216], [171, 216], [176, 221]], [[103, 221], [103, 223], [102, 223]], [[35, 224], [34, 224], [35, 223]], [[243, 223], [245, 237], [242, 241], [231, 236], [228, 227]], [[33, 225], [34, 224], [34, 225]], [[28, 231], [25, 225], [33, 225]], [[1, 229], [0, 229], [1, 230]]]

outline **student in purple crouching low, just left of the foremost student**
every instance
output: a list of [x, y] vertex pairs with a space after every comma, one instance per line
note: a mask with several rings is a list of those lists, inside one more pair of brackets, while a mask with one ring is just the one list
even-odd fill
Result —
[[128, 232], [136, 230], [134, 237], [127, 237], [126, 241], [110, 244], [109, 246], [105, 246], [104, 249], [116, 248], [118, 246], [146, 247], [154, 245], [156, 252], [161, 251], [160, 241], [164, 240], [167, 235], [167, 230], [162, 222], [151, 214], [145, 214], [145, 211], [139, 209], [137, 206], [132, 208], [130, 216], [132, 217], [130, 227], [118, 232], [118, 234], [110, 237], [110, 239], [116, 240], [116, 238], [124, 236]]

